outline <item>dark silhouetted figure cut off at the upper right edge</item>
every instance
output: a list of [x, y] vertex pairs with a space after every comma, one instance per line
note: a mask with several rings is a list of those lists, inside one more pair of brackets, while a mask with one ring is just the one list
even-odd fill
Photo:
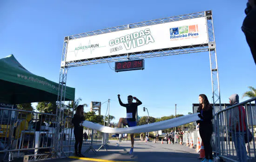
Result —
[[242, 31], [245, 34], [256, 64], [256, 0], [248, 0], [245, 14], [246, 17], [243, 20]]

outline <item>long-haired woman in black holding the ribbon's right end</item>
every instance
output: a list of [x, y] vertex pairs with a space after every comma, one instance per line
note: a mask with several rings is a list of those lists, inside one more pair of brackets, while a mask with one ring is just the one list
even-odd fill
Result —
[[197, 123], [200, 123], [199, 133], [202, 138], [202, 143], [204, 145], [205, 151], [205, 159], [202, 162], [213, 162], [211, 146], [211, 137], [213, 132], [213, 108], [212, 106], [210, 106], [209, 100], [207, 99], [205, 94], [199, 95], [199, 102], [200, 105], [197, 109], [197, 112], [200, 112], [200, 114], [198, 114], [198, 117], [201, 118], [201, 120], [198, 120]]

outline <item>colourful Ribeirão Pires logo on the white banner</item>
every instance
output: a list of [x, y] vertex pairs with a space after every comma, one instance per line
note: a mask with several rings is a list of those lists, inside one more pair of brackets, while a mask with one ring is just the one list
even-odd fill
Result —
[[178, 39], [178, 38], [192, 38], [198, 37], [198, 25], [189, 25], [189, 26], [181, 26], [170, 28], [170, 38]]

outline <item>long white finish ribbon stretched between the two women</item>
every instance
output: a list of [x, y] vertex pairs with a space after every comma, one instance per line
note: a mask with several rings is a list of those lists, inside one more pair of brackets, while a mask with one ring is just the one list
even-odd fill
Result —
[[185, 115], [179, 118], [172, 118], [156, 123], [151, 123], [149, 125], [139, 125], [135, 127], [129, 128], [111, 128], [108, 126], [99, 125], [90, 121], [84, 121], [82, 125], [87, 128], [91, 128], [96, 131], [101, 131], [104, 133], [141, 133], [141, 132], [150, 132], [150, 131], [159, 131], [168, 128], [173, 128], [179, 125], [184, 125], [187, 123], [194, 122], [196, 120], [200, 120], [197, 116], [199, 113]]

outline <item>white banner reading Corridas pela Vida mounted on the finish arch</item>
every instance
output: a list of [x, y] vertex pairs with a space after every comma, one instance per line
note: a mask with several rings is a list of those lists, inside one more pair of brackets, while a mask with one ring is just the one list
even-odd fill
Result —
[[207, 43], [205, 17], [187, 19], [69, 40], [66, 62]]

